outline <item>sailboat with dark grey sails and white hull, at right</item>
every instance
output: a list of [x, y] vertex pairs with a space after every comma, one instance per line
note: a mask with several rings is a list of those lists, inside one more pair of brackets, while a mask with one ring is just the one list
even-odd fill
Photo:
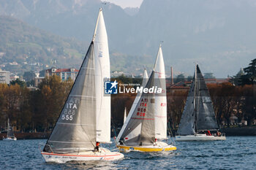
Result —
[[225, 134], [219, 132], [214, 107], [199, 66], [189, 89], [186, 105], [178, 125], [176, 141], [212, 141], [225, 140]]

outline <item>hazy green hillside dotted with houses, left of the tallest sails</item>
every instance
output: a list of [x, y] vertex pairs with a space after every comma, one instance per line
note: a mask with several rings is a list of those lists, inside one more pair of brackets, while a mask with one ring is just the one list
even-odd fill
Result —
[[[85, 43], [63, 38], [0, 16], [0, 63], [11, 72], [39, 71], [50, 66], [78, 67]], [[15, 63], [17, 62], [17, 63]]]

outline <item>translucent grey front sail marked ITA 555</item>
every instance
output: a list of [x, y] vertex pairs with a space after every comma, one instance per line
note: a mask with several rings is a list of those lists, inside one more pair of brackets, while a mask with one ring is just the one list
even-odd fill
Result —
[[78, 76], [53, 128], [45, 152], [93, 150], [96, 142], [94, 43], [91, 42]]

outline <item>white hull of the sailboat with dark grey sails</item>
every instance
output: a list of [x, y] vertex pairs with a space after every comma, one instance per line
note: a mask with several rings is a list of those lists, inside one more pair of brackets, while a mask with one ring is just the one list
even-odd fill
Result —
[[176, 136], [176, 141], [217, 141], [226, 140], [226, 136], [207, 136], [206, 134]]

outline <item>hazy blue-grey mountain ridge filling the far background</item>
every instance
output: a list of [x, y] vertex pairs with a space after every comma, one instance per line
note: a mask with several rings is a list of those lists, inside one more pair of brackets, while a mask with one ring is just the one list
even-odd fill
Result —
[[1, 3], [0, 9], [4, 10], [0, 14], [4, 11], [38, 28], [86, 43], [91, 41], [102, 7], [112, 53], [137, 56], [137, 61], [149, 55], [154, 61], [163, 41], [168, 70], [173, 66], [192, 74], [196, 61], [203, 72], [226, 77], [255, 58], [256, 5], [252, 0], [144, 0], [132, 16], [115, 4], [104, 5], [99, 0], [33, 0], [32, 4], [26, 0], [13, 0], [17, 3], [12, 4], [1, 1], [4, 5]]

